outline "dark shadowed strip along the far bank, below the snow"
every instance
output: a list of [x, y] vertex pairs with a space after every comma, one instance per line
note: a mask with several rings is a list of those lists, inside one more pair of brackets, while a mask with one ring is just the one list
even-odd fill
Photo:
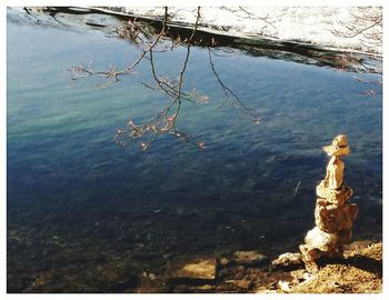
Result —
[[[71, 8], [71, 7], [47, 7], [42, 11], [56, 19], [57, 14], [83, 16], [83, 14], [107, 14], [123, 21], [137, 21], [142, 30], [150, 34], [158, 34], [163, 26], [162, 19], [134, 16], [122, 12], [114, 12], [104, 9], [93, 8]], [[107, 24], [84, 21], [84, 24], [106, 28]], [[193, 28], [184, 22], [167, 22], [168, 36], [174, 40], [188, 40], [192, 34]], [[242, 50], [255, 57], [267, 57], [271, 59], [280, 59], [293, 61], [305, 64], [315, 64], [319, 67], [330, 67], [337, 70], [350, 72], [373, 72], [380, 70], [381, 59], [377, 59], [366, 53], [339, 52], [326, 49], [319, 46], [302, 43], [297, 41], [282, 41], [269, 39], [266, 37], [235, 37], [207, 28], [198, 28], [194, 34], [194, 44], [200, 47], [212, 48], [232, 48]]]

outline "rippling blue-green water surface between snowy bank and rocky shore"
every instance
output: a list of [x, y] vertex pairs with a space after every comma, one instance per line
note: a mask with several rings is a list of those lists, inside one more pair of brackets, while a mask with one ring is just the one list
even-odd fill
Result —
[[[360, 206], [355, 238], [380, 239], [382, 99], [361, 93], [379, 87], [238, 50], [215, 57], [228, 87], [258, 109], [262, 123], [253, 124], [219, 108], [208, 51], [193, 47], [188, 89], [210, 101], [184, 103], [178, 126], [206, 150], [171, 137], [148, 151], [121, 148], [114, 132], [129, 117], [146, 120], [168, 103], [139, 84], [152, 81], [148, 62], [107, 89], [96, 88], [103, 79], [72, 81], [67, 70], [91, 60], [97, 69], [126, 67], [140, 48], [103, 30], [26, 18], [8, 11], [9, 291], [124, 291], [131, 283], [118, 282], [163, 276], [176, 260], [296, 251], [313, 227], [321, 147], [339, 133], [349, 138], [346, 180]], [[156, 56], [160, 73], [174, 77], [184, 48]]]

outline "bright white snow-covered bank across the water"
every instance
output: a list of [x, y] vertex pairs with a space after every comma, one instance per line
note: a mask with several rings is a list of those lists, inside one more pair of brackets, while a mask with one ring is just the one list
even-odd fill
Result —
[[[114, 8], [162, 18], [164, 9]], [[193, 24], [196, 8], [168, 9], [170, 22]], [[201, 26], [231, 36], [267, 37], [336, 49], [382, 53], [382, 10], [378, 7], [203, 7]]]

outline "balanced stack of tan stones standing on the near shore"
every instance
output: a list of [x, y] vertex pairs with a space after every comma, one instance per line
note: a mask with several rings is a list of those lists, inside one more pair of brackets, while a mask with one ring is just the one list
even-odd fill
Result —
[[331, 156], [326, 178], [317, 186], [315, 209], [316, 227], [308, 231], [305, 244], [300, 246], [306, 269], [318, 270], [320, 257], [342, 257], [342, 247], [351, 241], [351, 228], [358, 214], [358, 207], [348, 200], [352, 190], [343, 181], [345, 163], [341, 156], [348, 156], [350, 149], [347, 137], [336, 137], [331, 146], [323, 147]]

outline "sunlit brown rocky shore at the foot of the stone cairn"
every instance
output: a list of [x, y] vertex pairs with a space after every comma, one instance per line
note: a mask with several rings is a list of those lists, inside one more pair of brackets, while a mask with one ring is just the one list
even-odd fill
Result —
[[317, 273], [303, 264], [275, 266], [258, 251], [236, 251], [172, 266], [161, 278], [143, 273], [127, 292], [376, 293], [382, 290], [382, 243], [356, 241], [343, 258], [326, 258]]

